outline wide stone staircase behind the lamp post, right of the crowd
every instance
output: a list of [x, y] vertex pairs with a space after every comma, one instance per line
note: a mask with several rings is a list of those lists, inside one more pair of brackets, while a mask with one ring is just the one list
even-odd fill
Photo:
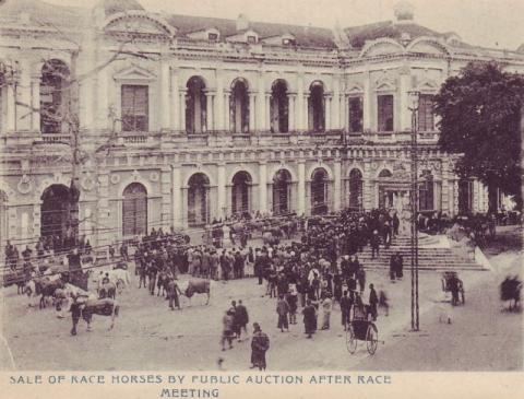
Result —
[[[389, 269], [390, 257], [396, 251], [404, 258], [404, 274], [409, 272], [412, 266], [410, 237], [396, 236], [390, 248], [380, 246], [380, 256], [371, 259], [371, 247], [368, 245], [358, 254], [358, 259], [365, 269]], [[418, 239], [418, 268], [419, 270], [486, 270], [481, 265], [468, 259], [457, 250], [438, 244], [433, 236], [420, 235]]]

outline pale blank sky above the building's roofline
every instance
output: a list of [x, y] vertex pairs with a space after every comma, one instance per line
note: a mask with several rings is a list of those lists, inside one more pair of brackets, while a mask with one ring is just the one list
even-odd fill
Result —
[[[99, 0], [44, 0], [90, 7]], [[138, 0], [146, 10], [332, 27], [394, 20], [398, 0]], [[524, 44], [524, 0], [412, 0], [415, 22], [455, 32], [472, 45], [516, 49]]]

